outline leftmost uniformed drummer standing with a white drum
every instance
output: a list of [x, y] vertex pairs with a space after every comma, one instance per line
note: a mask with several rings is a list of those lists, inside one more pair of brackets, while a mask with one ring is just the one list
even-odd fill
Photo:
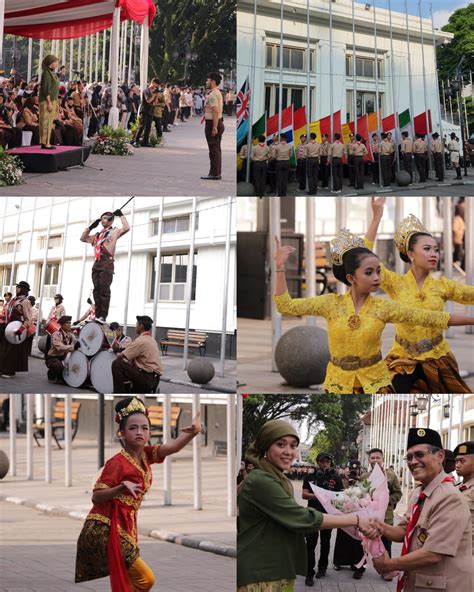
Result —
[[[16, 372], [28, 372], [28, 339], [20, 343], [21, 334], [31, 324], [31, 303], [28, 300], [30, 285], [19, 282], [16, 295], [5, 304], [5, 323], [0, 331], [0, 372], [2, 378], [13, 378]], [[5, 328], [12, 321], [20, 321], [21, 327], [16, 331], [18, 343], [10, 343], [5, 337]]]

